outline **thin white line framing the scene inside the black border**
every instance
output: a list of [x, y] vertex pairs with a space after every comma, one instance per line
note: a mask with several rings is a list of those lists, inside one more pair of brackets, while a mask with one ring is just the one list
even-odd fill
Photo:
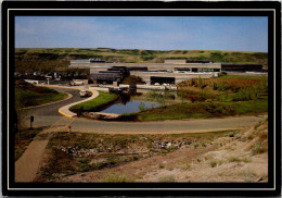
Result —
[[[67, 10], [74, 10], [74, 11], [272, 11], [273, 12], [273, 83], [274, 83], [274, 111], [273, 111], [273, 121], [274, 121], [274, 136], [273, 136], [273, 154], [274, 154], [274, 163], [273, 163], [273, 188], [10, 188], [9, 187], [9, 135], [8, 133], [8, 162], [7, 162], [7, 168], [8, 168], [8, 190], [274, 190], [275, 188], [275, 9], [8, 9], [8, 90], [9, 90], [9, 12], [15, 11], [15, 10], [48, 10], [48, 11], [67, 11]], [[269, 33], [269, 29], [268, 29]], [[269, 36], [269, 34], [268, 34]], [[268, 44], [269, 45], [269, 44]], [[10, 126], [9, 124], [9, 95], [8, 96], [8, 128]], [[268, 168], [269, 169], [269, 168]]]

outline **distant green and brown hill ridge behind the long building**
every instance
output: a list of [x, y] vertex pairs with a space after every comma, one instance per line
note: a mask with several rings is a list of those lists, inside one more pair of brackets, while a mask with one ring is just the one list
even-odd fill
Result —
[[54, 71], [69, 65], [69, 60], [101, 58], [106, 62], [164, 62], [165, 59], [211, 60], [229, 63], [258, 63], [268, 69], [268, 53], [218, 50], [141, 50], [110, 48], [15, 49], [17, 72]]

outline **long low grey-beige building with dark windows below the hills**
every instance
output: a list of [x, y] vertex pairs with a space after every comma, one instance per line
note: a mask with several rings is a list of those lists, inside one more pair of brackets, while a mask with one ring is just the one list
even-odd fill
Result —
[[[214, 63], [213, 61], [187, 61], [187, 60], [165, 60], [164, 63], [106, 63], [104, 61], [72, 60], [69, 67], [90, 69], [90, 78], [104, 83], [117, 81], [116, 74], [111, 71], [126, 69], [128, 74], [141, 77], [146, 84], [177, 84], [191, 78], [216, 77], [218, 73], [226, 71], [235, 72], [258, 72], [262, 70], [259, 64], [228, 64]], [[108, 71], [107, 74], [103, 71]], [[92, 76], [92, 77], [91, 77]], [[121, 76], [123, 78], [123, 76]], [[120, 81], [120, 76], [118, 77]]]

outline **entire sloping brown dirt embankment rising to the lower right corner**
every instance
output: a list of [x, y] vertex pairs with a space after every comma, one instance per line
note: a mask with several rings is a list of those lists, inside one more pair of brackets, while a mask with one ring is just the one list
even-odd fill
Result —
[[169, 153], [55, 182], [268, 182], [268, 121]]

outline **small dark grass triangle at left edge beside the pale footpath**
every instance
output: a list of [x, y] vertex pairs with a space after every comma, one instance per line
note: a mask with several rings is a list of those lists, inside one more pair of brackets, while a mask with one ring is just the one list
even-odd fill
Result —
[[16, 161], [25, 152], [28, 145], [42, 128], [21, 129], [15, 134], [14, 160]]

